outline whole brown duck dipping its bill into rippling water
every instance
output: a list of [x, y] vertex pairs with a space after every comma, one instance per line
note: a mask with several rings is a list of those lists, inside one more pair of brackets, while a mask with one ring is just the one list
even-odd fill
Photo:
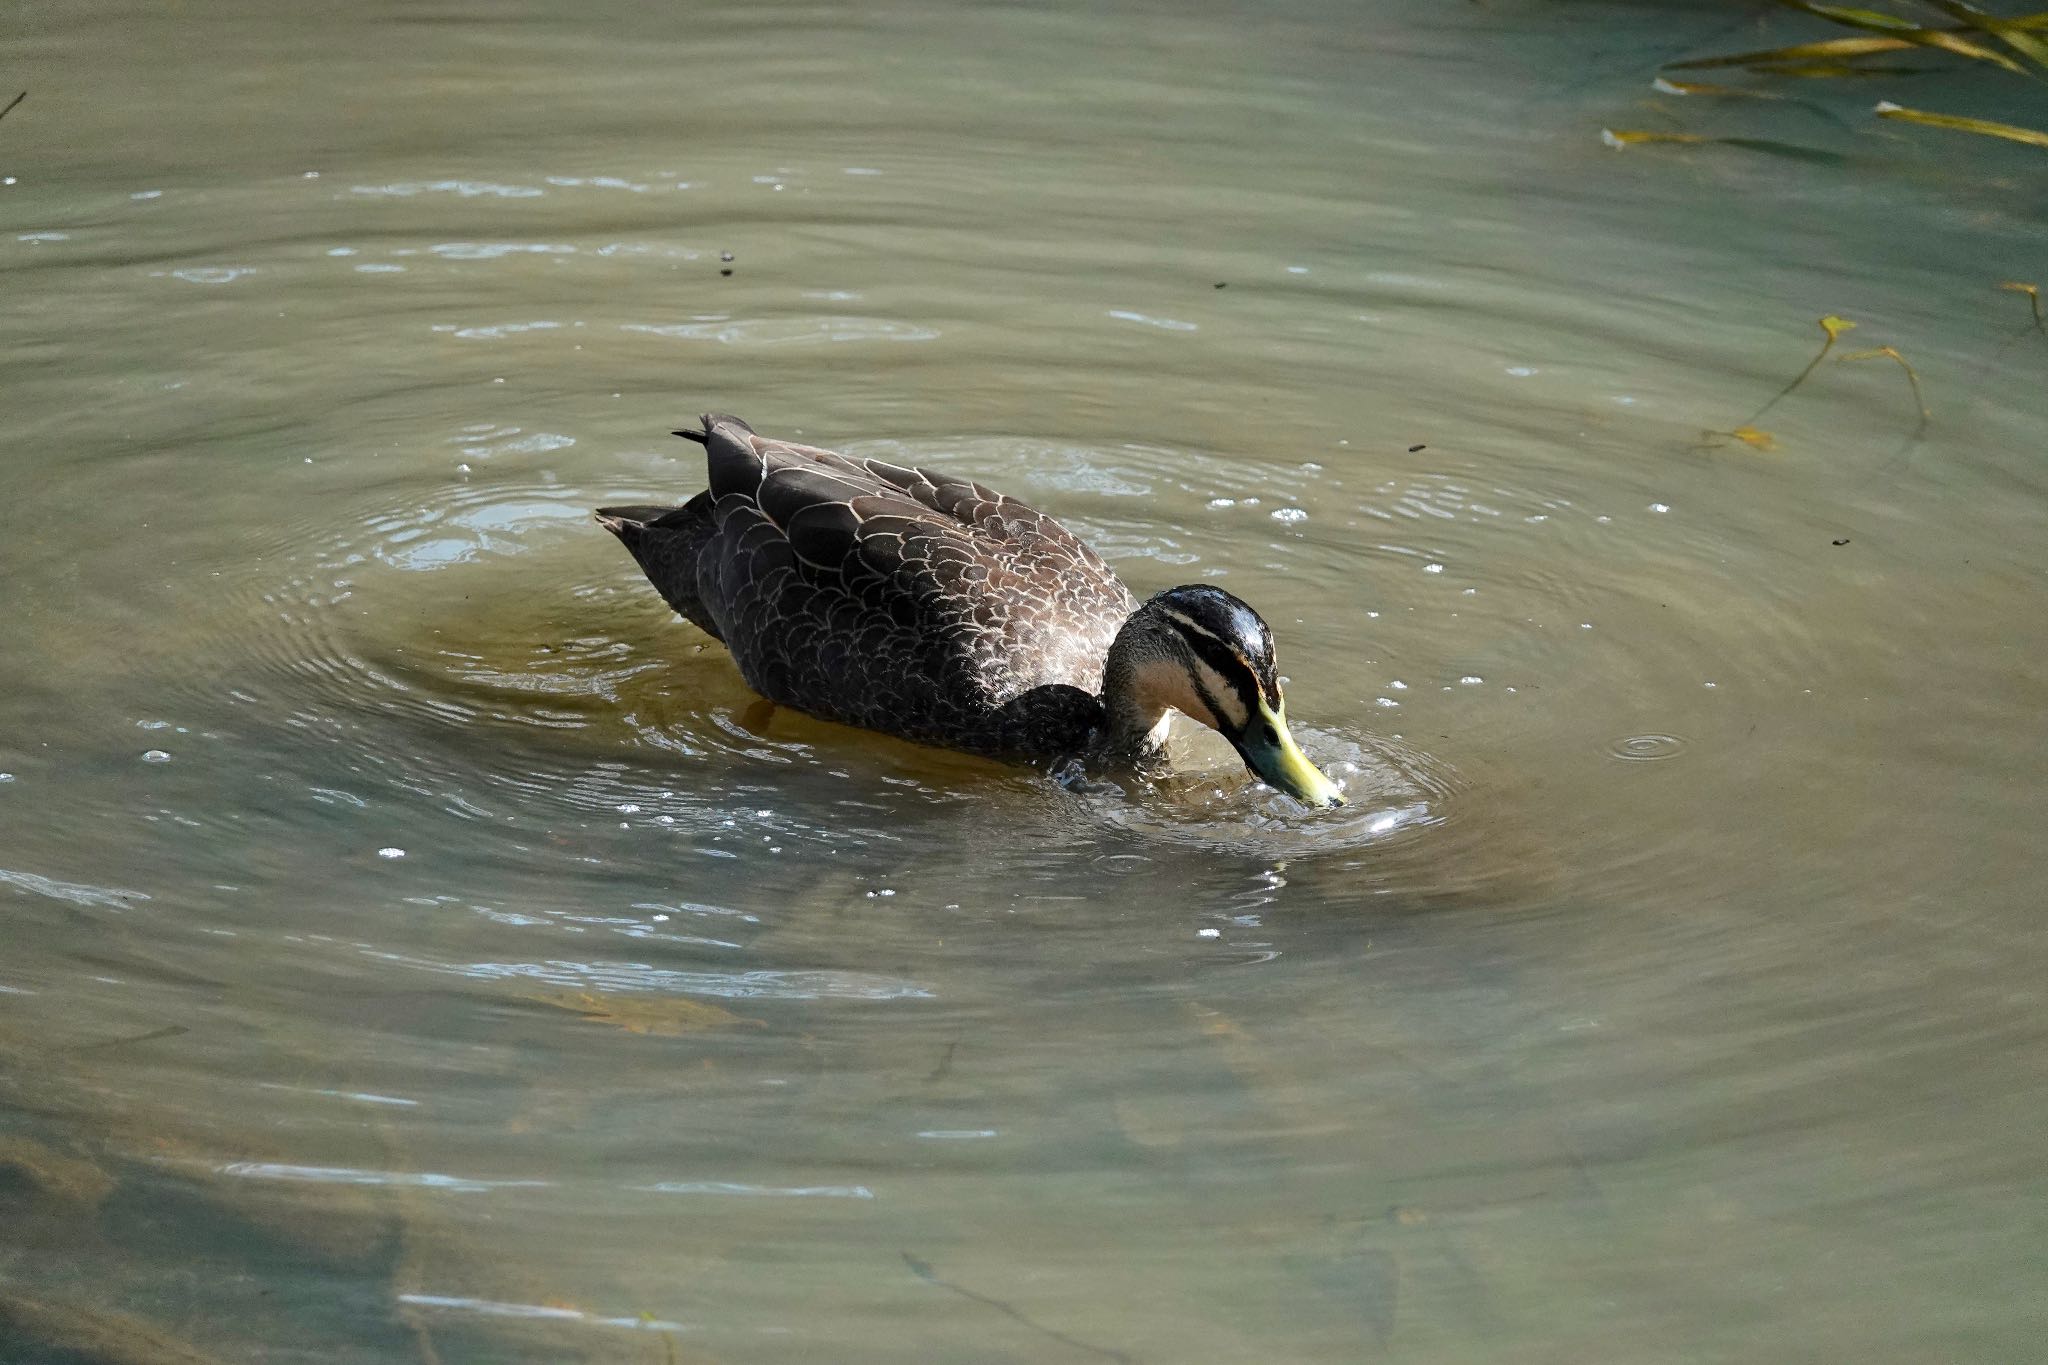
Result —
[[705, 413], [709, 487], [598, 508], [684, 620], [778, 706], [1006, 763], [1147, 772], [1171, 716], [1305, 806], [1343, 792], [1294, 743], [1274, 636], [1212, 583], [1139, 602], [1079, 536], [981, 483]]

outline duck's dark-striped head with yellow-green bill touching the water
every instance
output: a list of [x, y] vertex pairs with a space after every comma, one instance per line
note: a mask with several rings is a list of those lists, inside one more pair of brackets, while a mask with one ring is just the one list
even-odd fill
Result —
[[1288, 735], [1274, 632], [1221, 587], [1169, 587], [1133, 612], [1110, 649], [1104, 702], [1126, 741], [1157, 735], [1171, 708], [1231, 741], [1260, 782], [1305, 806], [1343, 804]]

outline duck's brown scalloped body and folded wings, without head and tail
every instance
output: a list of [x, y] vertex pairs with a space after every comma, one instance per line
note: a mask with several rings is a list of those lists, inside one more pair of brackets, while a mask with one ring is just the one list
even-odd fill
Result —
[[1137, 604], [1065, 526], [979, 483], [768, 440], [737, 417], [684, 436], [711, 465], [711, 489], [674, 514], [696, 522], [702, 616], [686, 614], [762, 696], [991, 753], [1057, 749], [1057, 731], [1092, 722]]

